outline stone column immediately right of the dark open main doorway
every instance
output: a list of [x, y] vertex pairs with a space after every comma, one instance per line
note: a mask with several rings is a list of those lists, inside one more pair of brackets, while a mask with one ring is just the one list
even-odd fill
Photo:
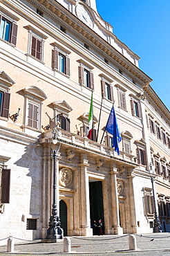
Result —
[[122, 235], [123, 228], [120, 227], [120, 215], [119, 215], [119, 199], [117, 195], [117, 168], [113, 167], [113, 170], [109, 172], [111, 179], [111, 225], [113, 228], [113, 234]]

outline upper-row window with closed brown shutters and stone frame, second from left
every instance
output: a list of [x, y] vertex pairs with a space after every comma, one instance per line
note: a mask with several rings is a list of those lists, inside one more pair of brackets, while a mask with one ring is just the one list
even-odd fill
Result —
[[28, 53], [26, 53], [27, 60], [28, 57], [35, 57], [36, 60], [44, 61], [44, 39], [47, 39], [46, 35], [39, 32], [39, 30], [28, 25], [25, 26], [28, 30]]

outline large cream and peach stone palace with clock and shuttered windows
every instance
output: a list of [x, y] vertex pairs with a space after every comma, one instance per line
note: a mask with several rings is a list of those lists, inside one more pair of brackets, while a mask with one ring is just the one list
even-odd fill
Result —
[[[106, 235], [153, 232], [151, 176], [162, 230], [169, 231], [169, 110], [95, 0], [1, 0], [0, 21], [0, 239], [46, 238], [50, 146], [59, 145], [64, 235], [93, 235], [94, 219], [102, 219]], [[104, 132], [113, 103], [120, 155]]]

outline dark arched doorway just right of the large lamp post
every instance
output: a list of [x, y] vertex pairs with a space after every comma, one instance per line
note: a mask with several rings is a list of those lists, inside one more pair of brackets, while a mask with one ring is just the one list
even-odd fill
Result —
[[59, 201], [59, 218], [61, 221], [61, 228], [64, 231], [64, 237], [67, 236], [67, 205], [63, 200]]

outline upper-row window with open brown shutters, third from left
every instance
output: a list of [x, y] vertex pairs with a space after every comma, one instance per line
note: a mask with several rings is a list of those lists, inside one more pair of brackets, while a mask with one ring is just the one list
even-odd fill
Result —
[[63, 48], [59, 51], [59, 46], [55, 43], [53, 46], [55, 46], [55, 48], [52, 50], [52, 68], [55, 71], [70, 75], [70, 58], [68, 57], [70, 52]]

